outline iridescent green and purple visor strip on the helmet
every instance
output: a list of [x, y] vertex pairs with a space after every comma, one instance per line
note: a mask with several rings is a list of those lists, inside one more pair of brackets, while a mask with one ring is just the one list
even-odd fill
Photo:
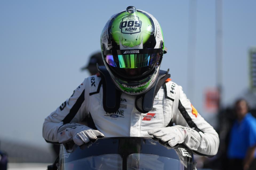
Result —
[[106, 62], [118, 68], [133, 69], [150, 66], [159, 60], [159, 54], [107, 55]]

